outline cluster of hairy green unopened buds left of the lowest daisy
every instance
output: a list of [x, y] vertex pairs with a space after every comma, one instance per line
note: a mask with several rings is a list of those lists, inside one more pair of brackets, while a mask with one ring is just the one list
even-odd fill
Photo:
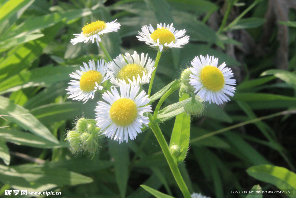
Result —
[[85, 118], [80, 118], [74, 130], [67, 132], [67, 140], [75, 152], [95, 153], [98, 149], [99, 128]]

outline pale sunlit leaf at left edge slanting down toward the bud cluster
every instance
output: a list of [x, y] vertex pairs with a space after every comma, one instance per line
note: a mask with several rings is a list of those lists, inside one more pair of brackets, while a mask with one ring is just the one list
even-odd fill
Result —
[[32, 132], [46, 140], [52, 141], [54, 143], [59, 143], [59, 141], [51, 134], [51, 132], [39, 122], [29, 111], [17, 104], [14, 104], [9, 99], [0, 96], [0, 114], [9, 115], [6, 119], [10, 122], [17, 123], [20, 127], [25, 130]]

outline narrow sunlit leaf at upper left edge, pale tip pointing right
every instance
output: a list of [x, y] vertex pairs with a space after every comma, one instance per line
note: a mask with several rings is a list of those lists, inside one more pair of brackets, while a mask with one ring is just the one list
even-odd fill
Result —
[[0, 51], [6, 50], [8, 48], [11, 48], [15, 45], [20, 45], [22, 43], [26, 43], [35, 39], [38, 39], [40, 37], [43, 37], [44, 34], [29, 34], [21, 37], [14, 37], [7, 40], [4, 40], [0, 42]]

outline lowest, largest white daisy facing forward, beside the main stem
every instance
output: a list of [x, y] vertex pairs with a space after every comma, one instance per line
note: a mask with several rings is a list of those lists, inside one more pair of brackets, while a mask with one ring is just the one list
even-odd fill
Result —
[[95, 120], [96, 125], [104, 131], [102, 134], [121, 143], [128, 142], [128, 137], [136, 139], [143, 125], [148, 126], [149, 123], [144, 113], [152, 111], [151, 105], [145, 106], [150, 99], [144, 90], [139, 93], [139, 86], [121, 83], [119, 88], [120, 94], [116, 88], [102, 94], [102, 98], [109, 104], [98, 102]]

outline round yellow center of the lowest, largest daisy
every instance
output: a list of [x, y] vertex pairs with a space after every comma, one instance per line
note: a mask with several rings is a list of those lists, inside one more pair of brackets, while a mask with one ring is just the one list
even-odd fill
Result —
[[127, 126], [133, 123], [137, 114], [136, 103], [128, 98], [116, 100], [110, 108], [111, 120], [119, 126]]

